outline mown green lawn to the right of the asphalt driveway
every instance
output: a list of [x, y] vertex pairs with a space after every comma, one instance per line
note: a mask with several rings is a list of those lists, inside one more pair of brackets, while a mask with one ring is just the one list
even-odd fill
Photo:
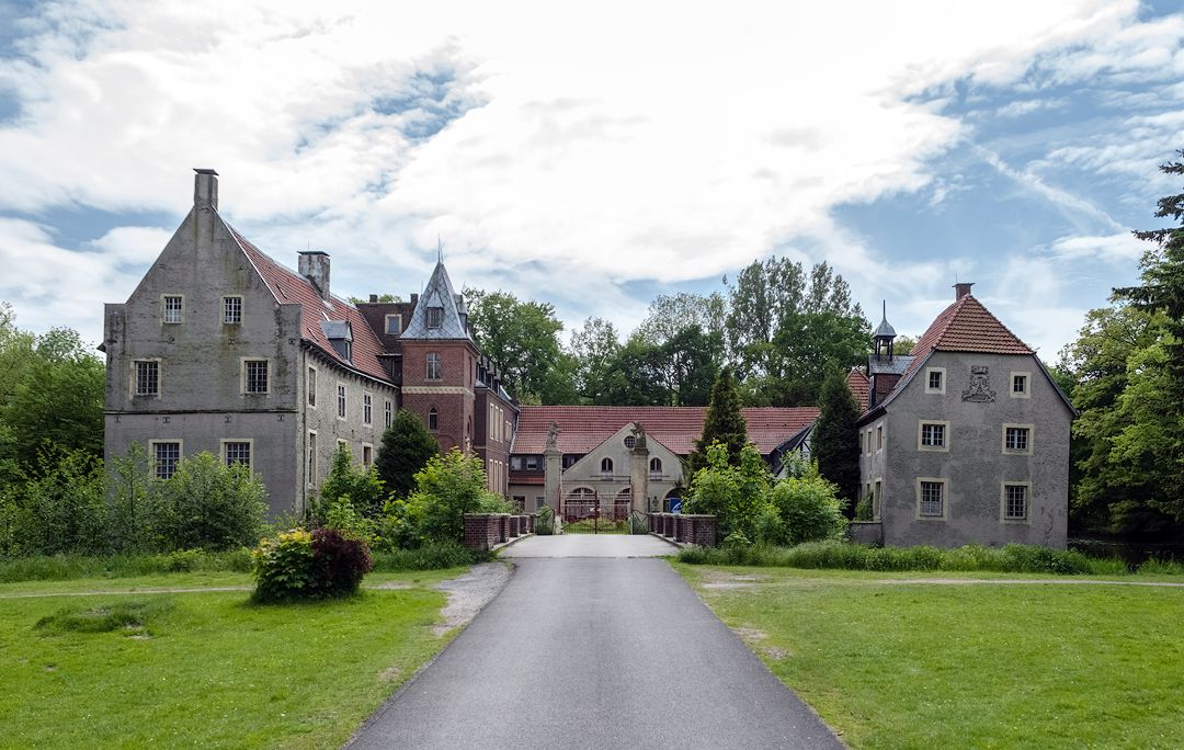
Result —
[[1184, 744], [1184, 588], [674, 566], [852, 746]]

